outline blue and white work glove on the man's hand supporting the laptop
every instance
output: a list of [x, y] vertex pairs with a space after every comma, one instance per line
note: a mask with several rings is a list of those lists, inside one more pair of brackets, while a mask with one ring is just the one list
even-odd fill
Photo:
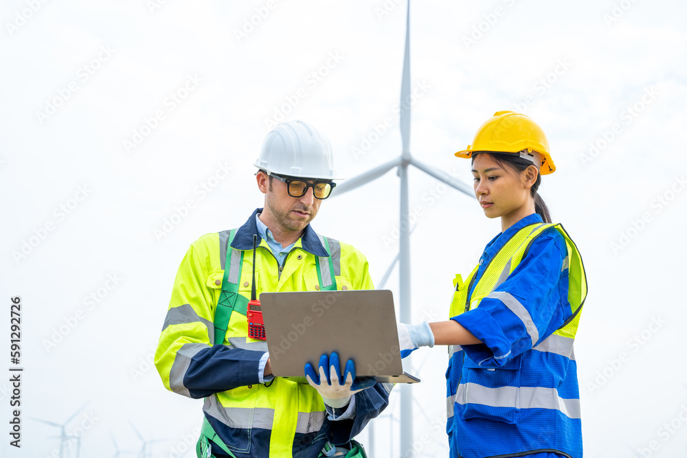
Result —
[[374, 377], [356, 377], [355, 364], [352, 359], [346, 363], [346, 369], [341, 377], [339, 355], [332, 352], [331, 356], [323, 354], [319, 358], [319, 371], [311, 363], [305, 365], [305, 378], [311, 387], [315, 388], [322, 400], [330, 407], [341, 409], [350, 401], [350, 397], [358, 391], [368, 389], [376, 383]]

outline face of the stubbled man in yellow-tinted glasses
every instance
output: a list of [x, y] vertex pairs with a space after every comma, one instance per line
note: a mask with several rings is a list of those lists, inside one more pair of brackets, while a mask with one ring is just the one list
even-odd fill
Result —
[[[258, 172], [257, 177], [258, 187], [265, 194], [263, 212], [267, 212], [265, 216], [279, 225], [282, 231], [302, 231], [315, 218], [322, 199], [315, 198], [312, 187], [308, 187], [303, 196], [291, 197], [283, 181], [270, 179], [264, 172]], [[314, 182], [310, 179], [304, 181]]]

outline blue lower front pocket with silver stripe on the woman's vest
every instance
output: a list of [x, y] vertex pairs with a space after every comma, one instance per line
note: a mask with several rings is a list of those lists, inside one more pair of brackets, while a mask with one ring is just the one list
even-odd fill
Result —
[[514, 424], [520, 411], [521, 355], [502, 367], [484, 367], [465, 356], [457, 402], [462, 418]]

